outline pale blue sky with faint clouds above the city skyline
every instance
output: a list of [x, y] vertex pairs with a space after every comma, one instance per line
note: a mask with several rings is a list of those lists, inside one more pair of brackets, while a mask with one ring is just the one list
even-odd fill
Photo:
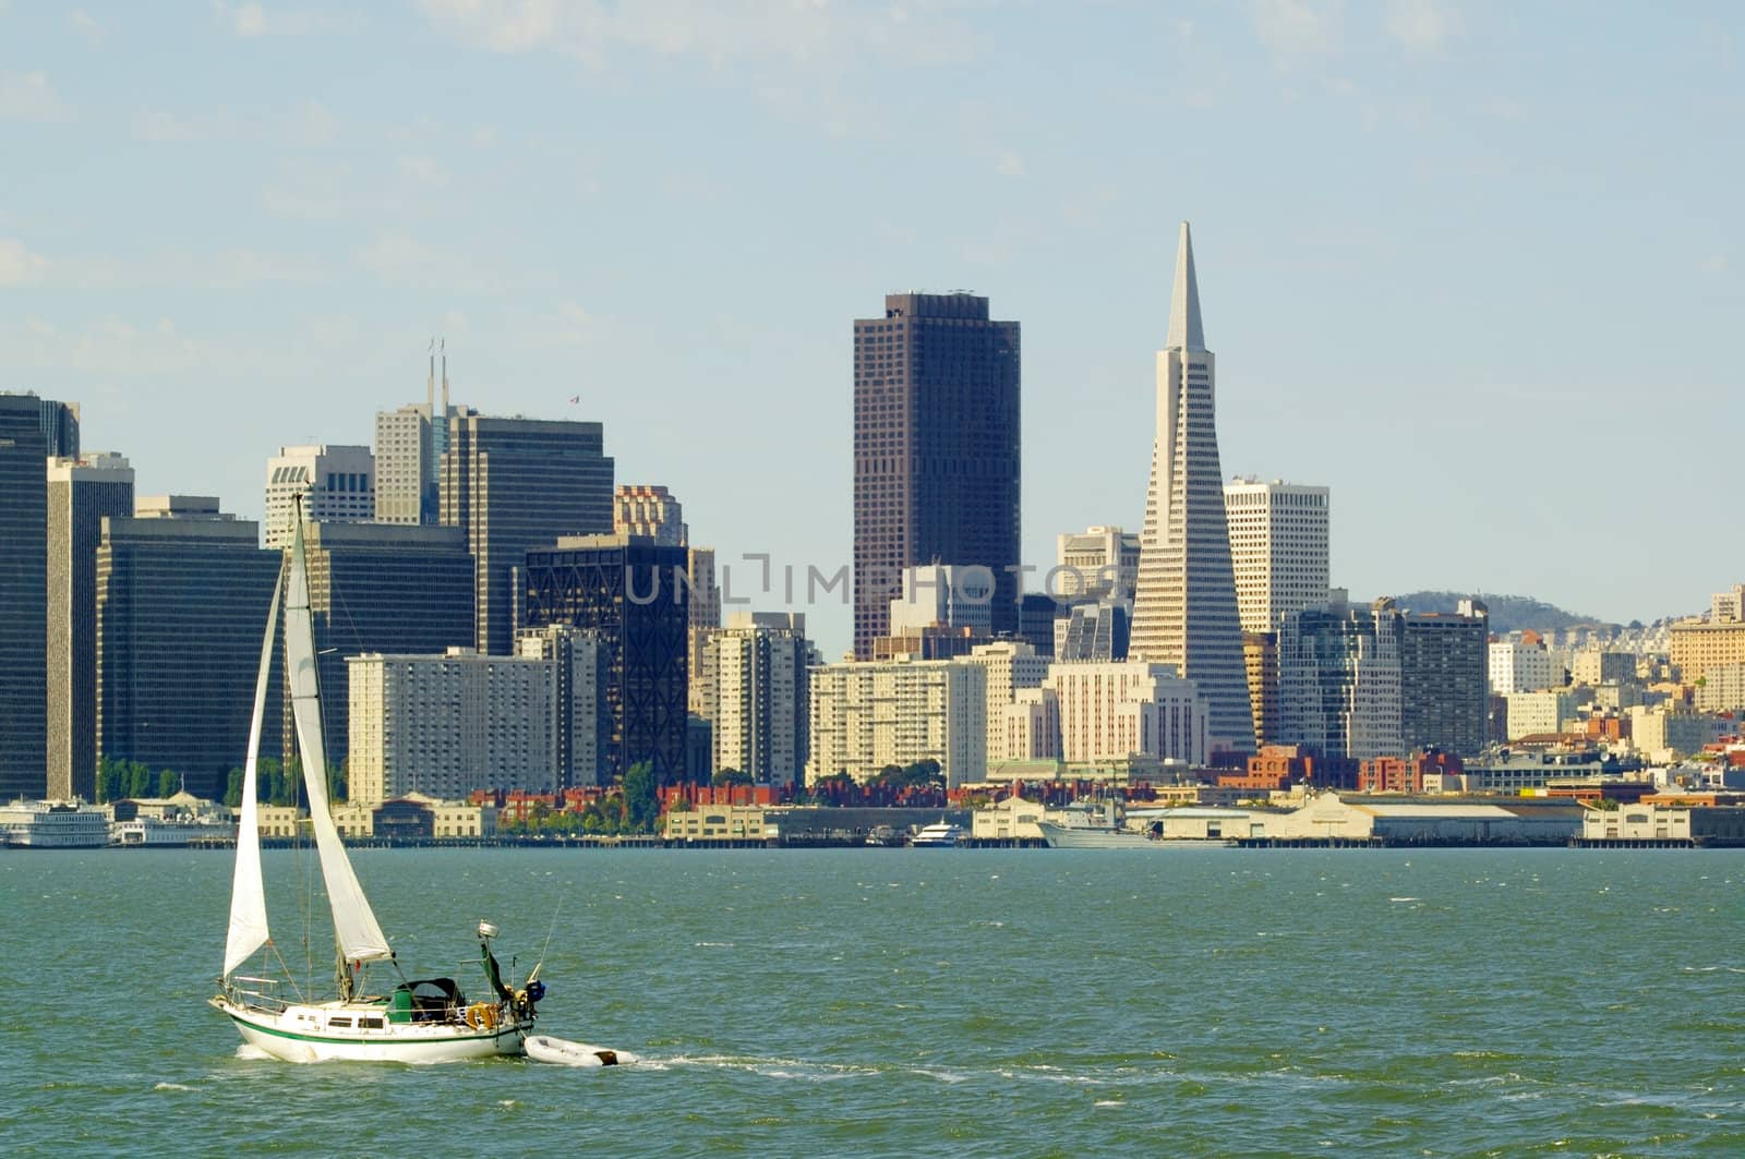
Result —
[[441, 335], [455, 401], [604, 422], [735, 606], [804, 606], [892, 291], [1023, 323], [1026, 562], [1139, 527], [1188, 220], [1223, 471], [1331, 487], [1333, 583], [1701, 611], [1742, 47], [1733, 3], [0, 0], [0, 389], [260, 518]]

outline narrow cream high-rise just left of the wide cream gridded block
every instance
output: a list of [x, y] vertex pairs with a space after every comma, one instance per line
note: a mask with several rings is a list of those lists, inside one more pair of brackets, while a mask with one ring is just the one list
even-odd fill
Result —
[[735, 613], [708, 637], [715, 677], [714, 766], [761, 785], [799, 784], [806, 766], [806, 620]]

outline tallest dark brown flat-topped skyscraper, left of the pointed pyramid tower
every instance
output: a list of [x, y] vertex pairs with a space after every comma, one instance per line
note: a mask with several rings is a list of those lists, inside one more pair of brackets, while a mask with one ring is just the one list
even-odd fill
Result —
[[1017, 627], [1019, 326], [970, 293], [885, 295], [855, 321], [855, 656], [886, 635], [902, 571], [986, 567]]

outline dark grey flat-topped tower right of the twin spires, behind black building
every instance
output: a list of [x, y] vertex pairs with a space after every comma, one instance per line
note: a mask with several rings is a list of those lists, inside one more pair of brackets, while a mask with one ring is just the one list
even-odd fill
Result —
[[466, 532], [475, 564], [475, 646], [504, 655], [522, 621], [527, 548], [612, 529], [612, 461], [599, 422], [448, 421], [441, 522]]

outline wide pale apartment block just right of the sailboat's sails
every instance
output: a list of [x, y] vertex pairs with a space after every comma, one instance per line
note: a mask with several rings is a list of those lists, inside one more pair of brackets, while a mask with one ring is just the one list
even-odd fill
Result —
[[557, 787], [557, 662], [450, 648], [346, 663], [352, 803]]

